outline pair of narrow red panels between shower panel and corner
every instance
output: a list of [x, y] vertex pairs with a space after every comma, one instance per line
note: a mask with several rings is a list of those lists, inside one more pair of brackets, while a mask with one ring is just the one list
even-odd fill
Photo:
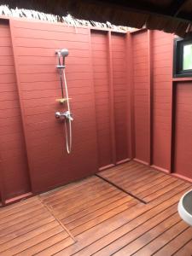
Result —
[[99, 167], [129, 158], [124, 34], [91, 32]]

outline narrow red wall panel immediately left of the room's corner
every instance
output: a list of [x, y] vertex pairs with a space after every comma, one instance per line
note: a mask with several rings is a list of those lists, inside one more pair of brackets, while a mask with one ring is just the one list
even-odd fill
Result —
[[128, 84], [126, 60], [126, 36], [112, 33], [113, 97], [116, 160], [128, 158]]

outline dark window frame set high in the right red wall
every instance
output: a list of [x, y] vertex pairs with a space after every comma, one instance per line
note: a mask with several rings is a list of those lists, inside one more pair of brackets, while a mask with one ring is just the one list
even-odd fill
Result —
[[173, 48], [173, 78], [192, 77], [192, 69], [183, 70], [183, 46], [192, 44], [192, 38], [175, 38]]

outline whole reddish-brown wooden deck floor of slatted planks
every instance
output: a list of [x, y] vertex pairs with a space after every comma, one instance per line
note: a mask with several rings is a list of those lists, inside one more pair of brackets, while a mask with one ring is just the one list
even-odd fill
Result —
[[0, 255], [192, 254], [177, 202], [192, 186], [129, 162], [0, 209]]

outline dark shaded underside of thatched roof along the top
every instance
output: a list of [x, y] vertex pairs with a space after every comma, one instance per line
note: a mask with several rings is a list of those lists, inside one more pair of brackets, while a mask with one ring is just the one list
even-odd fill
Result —
[[2, 0], [11, 8], [67, 15], [82, 20], [110, 21], [117, 26], [159, 29], [185, 36], [192, 31], [191, 0]]

